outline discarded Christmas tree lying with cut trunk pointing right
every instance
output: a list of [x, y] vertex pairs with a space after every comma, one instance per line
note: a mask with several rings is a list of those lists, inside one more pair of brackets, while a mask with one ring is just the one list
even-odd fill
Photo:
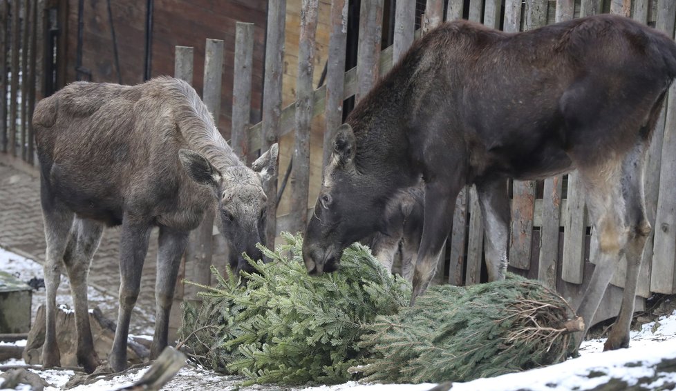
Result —
[[581, 318], [556, 292], [509, 274], [469, 287], [435, 286], [415, 306], [378, 317], [360, 347], [372, 352], [355, 368], [366, 381], [470, 381], [553, 363], [575, 351]]

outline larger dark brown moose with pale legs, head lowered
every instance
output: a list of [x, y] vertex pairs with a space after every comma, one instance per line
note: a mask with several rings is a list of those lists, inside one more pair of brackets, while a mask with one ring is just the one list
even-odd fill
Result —
[[673, 39], [623, 17], [605, 14], [518, 34], [467, 21], [443, 24], [413, 43], [337, 131], [303, 245], [308, 272], [336, 270], [346, 245], [386, 232], [388, 199], [423, 181], [412, 303], [429, 284], [467, 184], [478, 191], [489, 279], [503, 279], [507, 178], [577, 170], [600, 249], [577, 310], [588, 328], [626, 254], [623, 301], [605, 349], [626, 347], [651, 230], [646, 150], [675, 76]]

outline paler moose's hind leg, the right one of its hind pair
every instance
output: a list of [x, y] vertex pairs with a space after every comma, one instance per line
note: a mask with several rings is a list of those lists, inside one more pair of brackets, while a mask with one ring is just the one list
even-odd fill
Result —
[[73, 234], [66, 251], [64, 263], [71, 282], [71, 294], [75, 305], [75, 329], [77, 330], [77, 363], [87, 373], [94, 372], [99, 359], [94, 350], [94, 343], [89, 325], [87, 304], [87, 277], [91, 259], [96, 252], [103, 234], [103, 225], [95, 221], [75, 219]]

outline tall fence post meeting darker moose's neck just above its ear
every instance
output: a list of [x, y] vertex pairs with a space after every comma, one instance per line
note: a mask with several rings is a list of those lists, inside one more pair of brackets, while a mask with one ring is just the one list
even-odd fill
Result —
[[359, 47], [357, 48], [357, 80], [355, 101], [362, 99], [378, 81], [378, 58], [382, 34], [383, 1], [362, 1], [359, 10]]

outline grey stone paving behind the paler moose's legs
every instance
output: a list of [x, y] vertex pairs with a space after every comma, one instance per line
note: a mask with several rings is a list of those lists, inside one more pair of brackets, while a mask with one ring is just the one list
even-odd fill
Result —
[[[3, 154], [0, 153], [0, 158], [1, 155]], [[99, 249], [94, 254], [89, 272], [90, 285], [115, 302], [120, 288], [119, 243], [120, 230], [107, 228]], [[0, 159], [0, 246], [44, 263], [46, 246], [40, 207], [39, 173], [34, 168], [21, 166], [19, 169], [9, 166], [6, 159]], [[141, 292], [131, 319], [132, 333], [154, 327], [156, 254], [157, 230], [153, 230], [143, 266]], [[104, 314], [109, 319], [116, 320], [117, 305], [108, 307], [115, 310]]]

